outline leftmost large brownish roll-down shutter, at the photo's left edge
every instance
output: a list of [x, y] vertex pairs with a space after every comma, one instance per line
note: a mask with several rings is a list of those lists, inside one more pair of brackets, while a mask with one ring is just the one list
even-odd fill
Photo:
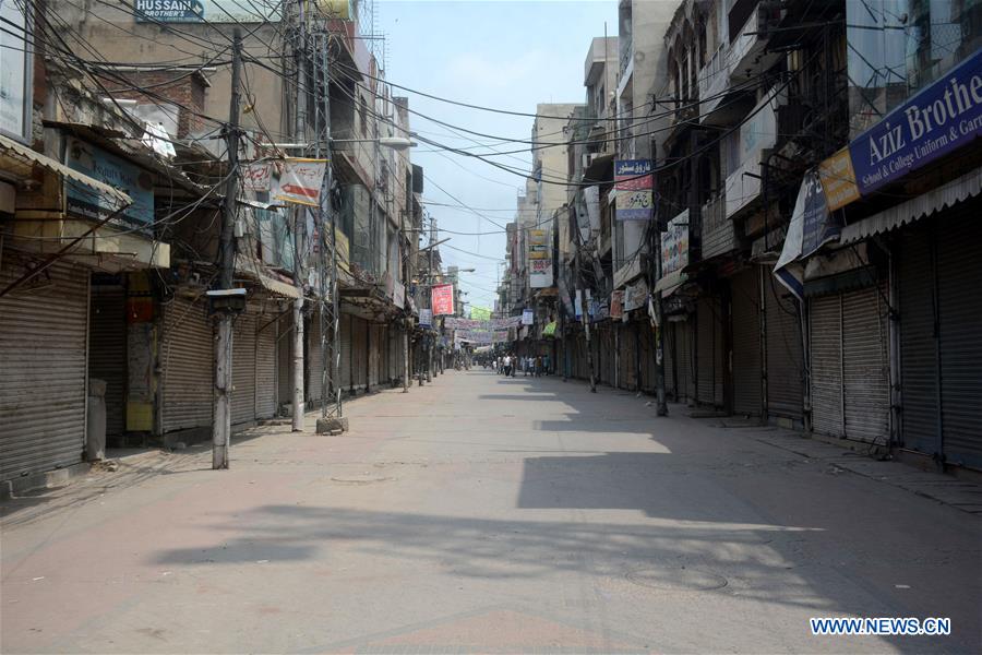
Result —
[[[0, 288], [24, 272], [3, 259]], [[0, 298], [0, 479], [82, 461], [88, 281], [59, 263]]]

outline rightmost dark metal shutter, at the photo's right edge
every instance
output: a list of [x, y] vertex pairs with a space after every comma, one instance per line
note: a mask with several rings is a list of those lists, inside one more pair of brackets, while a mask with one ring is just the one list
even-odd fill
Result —
[[982, 224], [975, 201], [938, 233], [937, 289], [946, 462], [982, 467]]

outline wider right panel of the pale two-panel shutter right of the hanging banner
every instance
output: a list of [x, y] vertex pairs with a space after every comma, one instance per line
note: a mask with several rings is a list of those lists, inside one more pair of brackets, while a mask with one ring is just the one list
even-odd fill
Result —
[[886, 444], [890, 382], [886, 288], [842, 295], [842, 385], [846, 437]]

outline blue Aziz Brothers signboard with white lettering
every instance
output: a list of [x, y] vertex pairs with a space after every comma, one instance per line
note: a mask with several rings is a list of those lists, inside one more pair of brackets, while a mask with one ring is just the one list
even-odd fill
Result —
[[860, 195], [982, 134], [982, 48], [849, 144]]

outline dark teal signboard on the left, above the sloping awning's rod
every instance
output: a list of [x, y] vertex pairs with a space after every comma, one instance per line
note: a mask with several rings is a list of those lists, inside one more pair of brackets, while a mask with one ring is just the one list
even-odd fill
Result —
[[[153, 230], [152, 174], [74, 136], [69, 136], [65, 141], [64, 164], [72, 170], [116, 187], [133, 199], [133, 204], [110, 221], [109, 225], [142, 227], [147, 233]], [[113, 200], [69, 178], [64, 179], [64, 196], [65, 212], [82, 218], [101, 221], [119, 209]]]

